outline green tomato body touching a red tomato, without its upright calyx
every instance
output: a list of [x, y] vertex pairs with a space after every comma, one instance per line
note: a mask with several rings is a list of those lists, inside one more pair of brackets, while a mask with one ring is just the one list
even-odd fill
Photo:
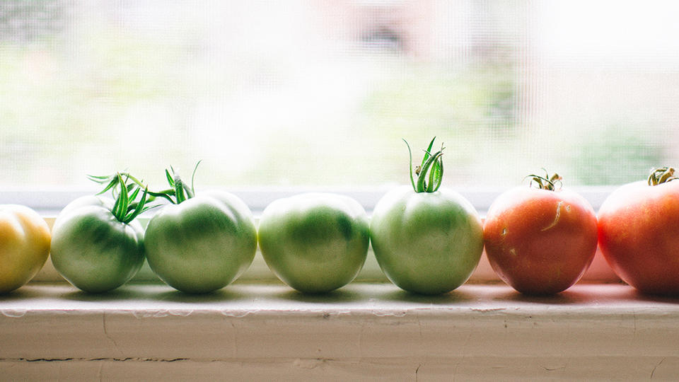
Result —
[[476, 210], [451, 190], [399, 187], [376, 205], [371, 241], [382, 271], [397, 287], [442, 294], [464, 284], [483, 252]]

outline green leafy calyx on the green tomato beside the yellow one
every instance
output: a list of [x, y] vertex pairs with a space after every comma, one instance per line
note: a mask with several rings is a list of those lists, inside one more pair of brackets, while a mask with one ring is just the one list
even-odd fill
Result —
[[[98, 192], [97, 195], [102, 195], [108, 190], [111, 191], [115, 203], [110, 212], [122, 224], [129, 224], [139, 214], [158, 207], [157, 204], [153, 206], [147, 205], [148, 202], [152, 202], [155, 199], [150, 195], [149, 187], [129, 173], [117, 172], [113, 175], [103, 176], [87, 175], [87, 178], [101, 185], [106, 184], [104, 189]], [[141, 192], [142, 187], [144, 192], [141, 193], [140, 197], [139, 192]], [[137, 200], [138, 197], [139, 200]]]

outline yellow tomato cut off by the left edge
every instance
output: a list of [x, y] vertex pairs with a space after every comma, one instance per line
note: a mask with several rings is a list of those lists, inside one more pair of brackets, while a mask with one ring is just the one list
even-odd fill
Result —
[[27, 283], [50, 254], [50, 228], [28, 207], [0, 205], [0, 294]]

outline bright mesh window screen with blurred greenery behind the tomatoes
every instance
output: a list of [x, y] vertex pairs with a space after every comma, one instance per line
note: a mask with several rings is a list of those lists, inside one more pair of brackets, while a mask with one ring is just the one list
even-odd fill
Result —
[[[677, 163], [678, 6], [661, 1], [2, 1], [1, 185], [163, 169], [224, 187], [445, 184]], [[438, 146], [438, 143], [437, 143]]]

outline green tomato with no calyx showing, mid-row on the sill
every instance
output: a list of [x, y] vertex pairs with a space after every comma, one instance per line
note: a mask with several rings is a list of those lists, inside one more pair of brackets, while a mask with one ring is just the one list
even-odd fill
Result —
[[260, 219], [260, 249], [269, 268], [298, 291], [343, 287], [366, 261], [370, 234], [361, 204], [343, 195], [311, 193], [278, 199]]

